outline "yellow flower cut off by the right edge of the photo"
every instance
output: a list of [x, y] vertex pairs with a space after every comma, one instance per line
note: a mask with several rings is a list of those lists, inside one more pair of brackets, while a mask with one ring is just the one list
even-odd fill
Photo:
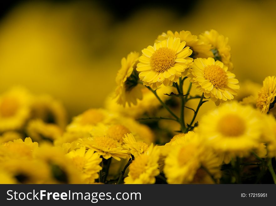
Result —
[[263, 87], [258, 92], [257, 108], [262, 113], [268, 113], [269, 109], [274, 107], [276, 103], [276, 77], [268, 76], [263, 81]]

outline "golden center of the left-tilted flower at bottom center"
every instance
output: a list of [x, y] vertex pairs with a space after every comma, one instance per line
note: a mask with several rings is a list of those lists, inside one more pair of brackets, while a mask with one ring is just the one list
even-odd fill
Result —
[[139, 178], [139, 176], [146, 170], [148, 162], [148, 156], [138, 156], [130, 164], [130, 176], [134, 179]]

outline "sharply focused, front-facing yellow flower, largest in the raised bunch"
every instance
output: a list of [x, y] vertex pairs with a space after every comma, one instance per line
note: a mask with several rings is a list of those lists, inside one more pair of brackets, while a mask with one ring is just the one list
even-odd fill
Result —
[[143, 49], [143, 55], [139, 57], [137, 64], [143, 84], [152, 86], [154, 90], [162, 84], [172, 86], [193, 64], [193, 59], [188, 57], [192, 50], [185, 45], [186, 42], [181, 42], [180, 38], [169, 37]]

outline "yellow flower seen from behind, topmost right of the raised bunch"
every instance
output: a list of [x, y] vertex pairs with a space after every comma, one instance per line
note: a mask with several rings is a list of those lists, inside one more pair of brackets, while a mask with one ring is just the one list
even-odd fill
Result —
[[[222, 61], [228, 67], [229, 71], [233, 70], [233, 63], [231, 62], [231, 47], [228, 45], [228, 38], [219, 34], [216, 30], [211, 29], [210, 31], [205, 31], [203, 34], [199, 35], [199, 39], [205, 44], [212, 45], [212, 52], [215, 60]], [[213, 57], [210, 56], [210, 57]]]

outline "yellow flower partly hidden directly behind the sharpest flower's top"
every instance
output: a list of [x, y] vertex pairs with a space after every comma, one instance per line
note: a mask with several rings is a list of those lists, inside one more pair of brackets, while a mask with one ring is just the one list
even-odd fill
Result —
[[208, 58], [213, 57], [213, 53], [211, 51], [211, 45], [204, 43], [202, 40], [199, 40], [196, 35], [191, 34], [190, 31], [180, 31], [179, 33], [172, 32], [170, 30], [167, 31], [167, 33], [162, 33], [157, 37], [157, 40], [155, 42], [161, 42], [162, 40], [168, 39], [168, 37], [177, 37], [180, 38], [180, 41], [185, 41], [186, 46], [190, 47], [190, 49], [193, 51], [192, 55], [190, 55], [191, 58]]

